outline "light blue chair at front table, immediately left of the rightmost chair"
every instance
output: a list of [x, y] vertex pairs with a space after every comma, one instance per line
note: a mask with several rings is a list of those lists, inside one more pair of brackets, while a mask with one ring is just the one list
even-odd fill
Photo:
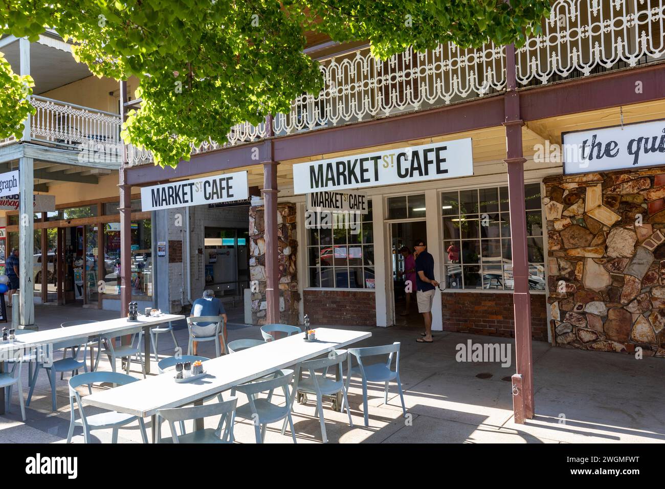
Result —
[[[321, 422], [321, 438], [324, 443], [328, 442], [328, 437], [326, 434], [326, 424], [323, 417], [323, 396], [329, 396], [337, 394], [341, 391], [342, 393], [342, 412], [346, 408], [346, 414], [348, 414], [348, 424], [353, 426], [353, 421], [351, 420], [351, 412], [348, 408], [348, 400], [346, 399], [346, 387], [344, 387], [344, 380], [342, 377], [342, 363], [346, 361], [346, 350], [335, 350], [331, 352], [329, 357], [323, 359], [309, 360], [306, 362], [300, 363], [296, 367], [295, 375], [295, 385], [293, 387], [294, 392], [296, 393], [311, 393], [317, 396], [317, 410], [315, 416], [319, 416], [319, 421]], [[339, 380], [332, 379], [328, 375], [328, 370], [330, 367], [337, 366], [339, 369]], [[321, 371], [323, 372], [317, 372]], [[300, 371], [309, 371], [309, 377], [299, 380]], [[291, 399], [291, 404], [293, 404], [293, 398]], [[286, 420], [282, 426], [282, 434], [284, 434], [287, 428]]]

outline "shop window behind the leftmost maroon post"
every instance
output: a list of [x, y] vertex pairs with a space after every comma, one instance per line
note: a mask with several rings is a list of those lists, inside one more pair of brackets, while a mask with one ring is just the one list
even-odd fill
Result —
[[[152, 297], [152, 222], [132, 221], [132, 298]], [[104, 293], [120, 295], [120, 223], [104, 226]]]

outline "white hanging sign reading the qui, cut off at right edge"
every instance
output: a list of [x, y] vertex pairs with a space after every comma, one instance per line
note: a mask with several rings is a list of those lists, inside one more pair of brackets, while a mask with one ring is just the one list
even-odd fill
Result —
[[665, 164], [665, 120], [563, 133], [565, 174]]

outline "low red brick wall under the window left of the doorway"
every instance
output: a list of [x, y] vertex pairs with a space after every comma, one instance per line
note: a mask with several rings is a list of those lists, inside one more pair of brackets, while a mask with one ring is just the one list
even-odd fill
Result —
[[313, 325], [376, 325], [374, 292], [353, 290], [305, 290], [305, 314]]

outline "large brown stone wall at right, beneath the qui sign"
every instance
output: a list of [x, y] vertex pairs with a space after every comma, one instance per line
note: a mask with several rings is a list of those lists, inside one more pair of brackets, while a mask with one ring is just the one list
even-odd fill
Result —
[[544, 183], [557, 345], [665, 357], [665, 170]]

